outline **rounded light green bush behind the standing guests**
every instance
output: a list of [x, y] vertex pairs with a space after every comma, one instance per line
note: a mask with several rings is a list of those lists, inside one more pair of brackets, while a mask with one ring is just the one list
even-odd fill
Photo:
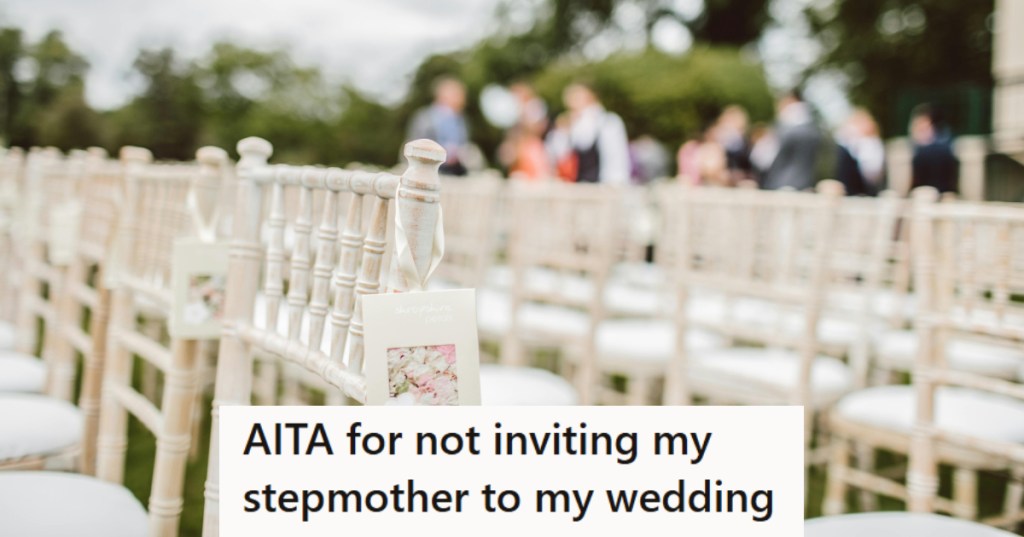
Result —
[[591, 84], [605, 107], [620, 114], [631, 135], [647, 133], [678, 147], [707, 127], [728, 105], [754, 121], [772, 117], [772, 96], [761, 67], [732, 48], [696, 47], [683, 56], [647, 50], [598, 64], [559, 63], [537, 79], [549, 102], [573, 80]]

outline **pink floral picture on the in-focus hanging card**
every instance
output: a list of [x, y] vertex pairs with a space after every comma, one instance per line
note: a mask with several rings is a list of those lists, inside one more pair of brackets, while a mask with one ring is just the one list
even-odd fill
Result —
[[455, 345], [387, 349], [388, 389], [397, 404], [458, 405]]

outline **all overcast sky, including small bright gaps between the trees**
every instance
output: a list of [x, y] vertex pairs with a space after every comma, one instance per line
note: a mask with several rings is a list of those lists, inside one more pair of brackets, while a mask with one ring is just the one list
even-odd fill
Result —
[[[523, 5], [540, 0], [516, 0]], [[806, 36], [801, 8], [810, 0], [774, 0], [777, 20], [759, 47], [769, 80], [782, 88], [816, 54]], [[218, 39], [256, 48], [288, 46], [303, 65], [319, 66], [330, 79], [347, 80], [394, 102], [410, 74], [427, 55], [456, 50], [497, 30], [500, 0], [6, 0], [0, 25], [22, 28], [30, 41], [59, 29], [91, 66], [87, 99], [96, 108], [123, 104], [135, 90], [131, 64], [140, 48], [173, 46], [189, 58]], [[684, 16], [700, 12], [702, 0], [675, 0]], [[626, 5], [625, 7], [631, 7]], [[620, 38], [599, 40], [597, 55], [630, 47], [641, 31], [636, 9], [621, 9]], [[524, 12], [528, 12], [525, 10]], [[518, 20], [521, 25], [523, 22]], [[508, 26], [509, 23], [503, 23]], [[635, 27], [635, 28], [634, 28]], [[635, 35], [634, 35], [635, 37]], [[692, 42], [679, 25], [655, 28], [655, 45], [682, 52]], [[633, 43], [635, 44], [635, 43]], [[821, 82], [821, 80], [819, 80]], [[809, 96], [836, 121], [849, 105], [841, 82], [812, 84]]]

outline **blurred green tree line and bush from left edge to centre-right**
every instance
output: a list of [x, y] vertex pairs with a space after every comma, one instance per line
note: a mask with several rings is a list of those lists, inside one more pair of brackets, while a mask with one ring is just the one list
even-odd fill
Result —
[[[743, 44], [760, 33], [766, 1], [710, 0], [705, 15], [682, 20], [670, 0], [545, 0], [528, 28], [425, 59], [409, 94], [393, 108], [330, 83], [318, 69], [294, 61], [286, 49], [219, 42], [196, 60], [171, 49], [140, 51], [133, 64], [140, 91], [118, 110], [100, 114], [82, 98], [88, 65], [59, 33], [27, 44], [18, 30], [3, 29], [0, 134], [15, 144], [65, 150], [104, 144], [116, 153], [121, 146], [144, 146], [161, 159], [190, 159], [202, 144], [233, 150], [239, 138], [256, 135], [273, 142], [281, 161], [390, 166], [398, 161], [396, 149], [409, 119], [432, 98], [432, 81], [453, 75], [466, 82], [472, 137], [489, 157], [504, 134], [478, 110], [484, 86], [537, 79], [557, 109], [561, 86], [587, 76], [599, 83], [609, 109], [624, 117], [631, 133], [677, 143], [727, 104], [742, 104], [755, 117], [767, 118], [770, 105], [760, 68], [731, 48], [700, 47], [683, 57], [648, 51], [588, 67], [579, 59], [588, 42], [612, 29], [616, 9], [632, 3], [644, 13], [648, 41], [655, 23], [671, 16], [701, 39]], [[734, 34], [723, 31], [723, 25]]]

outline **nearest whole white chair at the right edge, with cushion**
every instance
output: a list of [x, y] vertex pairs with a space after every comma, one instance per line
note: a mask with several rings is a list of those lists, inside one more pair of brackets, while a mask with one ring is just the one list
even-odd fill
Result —
[[[975, 520], [980, 515], [979, 472], [1009, 472], [1002, 512], [988, 522], [1013, 524], [1021, 520], [1024, 459], [996, 456], [979, 446], [1020, 449], [1024, 402], [1006, 396], [1024, 391], [1018, 381], [962, 369], [950, 359], [949, 347], [970, 340], [1019, 349], [1024, 341], [1024, 307], [1015, 301], [1024, 289], [1024, 261], [1017, 254], [1024, 244], [1024, 211], [997, 204], [936, 204], [936, 199], [931, 189], [914, 192], [919, 365], [913, 385], [859, 390], [833, 409], [835, 440], [823, 510], [842, 512], [852, 486], [909, 500], [911, 506], [918, 494], [918, 505], [927, 510]], [[943, 387], [936, 389], [939, 384]], [[947, 437], [973, 442], [959, 445]], [[911, 457], [914, 449], [922, 452], [904, 484], [886, 469], [849, 467], [851, 447]], [[937, 496], [934, 466], [939, 463], [953, 468], [949, 498]]]

